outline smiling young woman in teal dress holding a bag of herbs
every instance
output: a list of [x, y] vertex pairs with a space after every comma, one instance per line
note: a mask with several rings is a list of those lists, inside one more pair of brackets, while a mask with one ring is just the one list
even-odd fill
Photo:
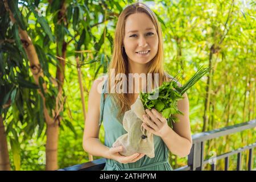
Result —
[[[173, 129], [168, 126], [167, 120], [158, 111], [145, 110], [147, 114], [144, 115], [143, 127], [154, 134], [154, 158], [137, 153], [122, 156], [119, 152], [123, 148], [112, 147], [112, 144], [118, 137], [127, 133], [122, 126], [123, 114], [130, 110], [139, 93], [109, 92], [112, 80], [110, 69], [114, 69], [115, 75], [158, 73], [159, 86], [163, 81], [170, 81], [171, 76], [163, 69], [163, 40], [160, 24], [156, 15], [143, 3], [127, 6], [119, 15], [108, 77], [105, 77], [107, 78], [105, 82], [101, 79], [95, 80], [89, 93], [83, 147], [89, 154], [106, 158], [104, 170], [172, 170], [168, 163], [169, 151], [184, 157], [189, 154], [192, 146], [187, 94], [185, 93], [183, 100], [177, 103], [178, 109], [184, 115], [176, 115], [179, 122], [173, 124]], [[131, 87], [131, 85], [128, 86]], [[140, 91], [144, 86], [146, 85], [139, 82]], [[98, 88], [108, 90], [108, 94], [100, 93]], [[100, 123], [103, 121], [105, 144], [98, 139], [99, 121]]]

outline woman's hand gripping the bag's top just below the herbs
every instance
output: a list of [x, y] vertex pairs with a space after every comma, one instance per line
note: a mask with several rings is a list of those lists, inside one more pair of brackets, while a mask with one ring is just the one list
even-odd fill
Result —
[[155, 109], [146, 109], [145, 111], [147, 114], [143, 115], [142, 124], [144, 129], [161, 138], [166, 136], [168, 134], [168, 130], [170, 130], [167, 119]]

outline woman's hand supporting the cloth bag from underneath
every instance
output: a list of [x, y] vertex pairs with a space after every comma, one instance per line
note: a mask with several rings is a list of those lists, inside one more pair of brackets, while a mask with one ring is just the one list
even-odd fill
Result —
[[109, 158], [116, 160], [119, 163], [127, 164], [127, 163], [134, 163], [137, 160], [143, 158], [143, 156], [145, 155], [145, 154], [135, 153], [130, 156], [123, 156], [119, 154], [119, 152], [121, 152], [122, 150], [123, 150], [122, 146], [109, 148]]

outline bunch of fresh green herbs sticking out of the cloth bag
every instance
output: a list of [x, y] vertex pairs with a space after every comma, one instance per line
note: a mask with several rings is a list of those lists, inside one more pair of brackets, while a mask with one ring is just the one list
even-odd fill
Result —
[[[201, 66], [195, 75], [181, 87], [177, 85], [177, 81], [174, 81], [175, 76], [172, 81], [163, 82], [162, 86], [159, 86], [150, 93], [141, 92], [140, 98], [144, 109], [151, 110], [154, 108], [158, 110], [159, 113], [162, 113], [164, 118], [167, 118], [168, 125], [172, 127], [172, 122], [178, 121], [178, 119], [174, 117], [174, 114], [183, 115], [183, 113], [177, 109], [177, 101], [183, 99], [183, 94], [195, 85], [205, 73], [209, 72], [209, 69], [210, 68], [203, 68], [203, 66]], [[157, 98], [155, 99], [154, 97], [156, 96]]]

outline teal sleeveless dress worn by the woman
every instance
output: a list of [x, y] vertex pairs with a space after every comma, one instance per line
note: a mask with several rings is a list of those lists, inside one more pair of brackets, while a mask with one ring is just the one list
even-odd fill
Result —
[[[107, 79], [108, 80], [108, 79]], [[122, 122], [118, 120], [117, 104], [110, 94], [106, 98], [106, 81], [103, 85], [103, 92], [101, 93], [100, 101], [100, 124], [103, 121], [105, 131], [105, 146], [111, 148], [112, 144], [127, 131], [123, 129]], [[124, 115], [124, 114], [123, 114]], [[123, 118], [123, 115], [121, 119]], [[106, 159], [104, 171], [172, 171], [172, 167], [168, 162], [169, 150], [162, 138], [154, 135], [155, 157], [148, 158], [144, 155], [143, 158], [134, 163], [119, 163], [116, 160]]]

